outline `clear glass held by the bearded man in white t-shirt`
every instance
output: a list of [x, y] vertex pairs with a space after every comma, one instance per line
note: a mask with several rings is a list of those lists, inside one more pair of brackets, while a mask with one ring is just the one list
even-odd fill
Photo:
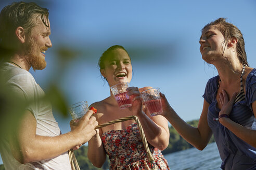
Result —
[[69, 112], [75, 123], [79, 122], [79, 120], [84, 116], [84, 114], [88, 111], [87, 101], [82, 101], [79, 103], [75, 103], [70, 106]]

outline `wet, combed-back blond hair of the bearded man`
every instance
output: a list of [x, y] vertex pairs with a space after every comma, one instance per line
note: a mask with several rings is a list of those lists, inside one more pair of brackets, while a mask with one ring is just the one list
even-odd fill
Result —
[[0, 51], [9, 54], [18, 48], [15, 30], [19, 26], [29, 35], [36, 19], [41, 18], [49, 29], [48, 16], [48, 9], [33, 2], [14, 2], [4, 7], [0, 13]]

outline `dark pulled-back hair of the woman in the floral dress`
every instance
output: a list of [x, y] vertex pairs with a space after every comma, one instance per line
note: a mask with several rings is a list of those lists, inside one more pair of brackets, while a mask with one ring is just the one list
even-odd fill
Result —
[[[109, 60], [111, 60], [111, 59], [113, 58], [113, 55], [111, 55], [111, 52], [112, 52], [113, 50], [116, 50], [116, 49], [122, 49], [122, 50], [124, 50], [124, 51], [128, 54], [128, 56], [129, 56], [129, 58], [130, 58], [129, 53], [124, 49], [123, 46], [119, 46], [119, 45], [111, 46], [111, 47], [109, 47], [106, 51], [104, 51], [104, 53], [101, 54], [101, 56], [100, 56], [99, 62], [98, 62], [98, 68], [99, 68], [99, 70], [105, 68], [105, 63], [106, 63], [106, 61], [109, 61]], [[130, 58], [130, 60], [131, 60], [131, 58]], [[105, 77], [104, 77], [104, 79], [107, 80]]]

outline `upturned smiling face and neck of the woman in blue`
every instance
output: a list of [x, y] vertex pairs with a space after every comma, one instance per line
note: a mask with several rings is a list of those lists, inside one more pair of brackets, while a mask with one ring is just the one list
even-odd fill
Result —
[[[199, 40], [202, 59], [209, 64], [213, 64], [222, 79], [222, 86], [217, 91], [217, 101], [219, 101], [219, 93], [223, 89], [226, 90], [229, 98], [232, 97], [234, 92], [238, 93], [240, 90], [239, 77], [242, 64], [236, 56], [236, 43], [236, 38], [225, 40], [216, 26], [204, 29]], [[248, 69], [250, 68], [246, 68], [246, 73], [248, 73]], [[233, 84], [233, 86], [229, 84]], [[220, 103], [217, 104], [221, 108]]]

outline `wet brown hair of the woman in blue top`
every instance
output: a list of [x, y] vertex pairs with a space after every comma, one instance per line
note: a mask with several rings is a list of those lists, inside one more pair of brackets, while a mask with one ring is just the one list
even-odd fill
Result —
[[238, 59], [242, 65], [249, 66], [245, 51], [245, 40], [241, 31], [234, 24], [226, 22], [225, 18], [219, 18], [204, 26], [201, 32], [203, 32], [204, 29], [208, 29], [210, 26], [216, 26], [216, 29], [222, 33], [226, 42], [233, 37], [237, 38], [236, 52]]

